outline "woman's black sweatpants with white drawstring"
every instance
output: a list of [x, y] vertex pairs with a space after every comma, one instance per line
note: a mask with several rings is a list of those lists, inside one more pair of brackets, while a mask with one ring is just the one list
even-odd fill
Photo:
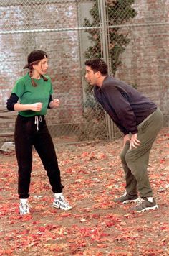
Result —
[[19, 198], [29, 197], [33, 146], [42, 160], [44, 169], [47, 171], [52, 191], [54, 193], [61, 193], [63, 186], [57, 163], [57, 155], [44, 116], [37, 116], [35, 122], [35, 116], [24, 117], [18, 115], [15, 123], [14, 140], [19, 168]]

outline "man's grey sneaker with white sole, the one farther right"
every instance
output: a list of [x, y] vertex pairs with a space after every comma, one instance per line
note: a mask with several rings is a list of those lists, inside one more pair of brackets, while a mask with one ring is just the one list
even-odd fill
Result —
[[148, 198], [140, 198], [140, 201], [137, 202], [137, 205], [130, 209], [130, 211], [144, 212], [149, 210], [158, 209], [158, 205], [155, 203], [155, 199], [153, 198], [153, 202], [148, 201]]

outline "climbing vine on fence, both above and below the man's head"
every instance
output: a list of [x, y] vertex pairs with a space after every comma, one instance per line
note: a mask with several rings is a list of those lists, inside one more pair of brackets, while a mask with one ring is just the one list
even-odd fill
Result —
[[[130, 19], [137, 14], [132, 4], [135, 0], [107, 0], [107, 34], [109, 35], [109, 51], [110, 51], [110, 73], [115, 75], [117, 68], [121, 64], [120, 55], [125, 51], [125, 48], [130, 42], [129, 29], [115, 27], [129, 22]], [[84, 19], [85, 27], [100, 27], [100, 16], [98, 1], [90, 9], [92, 22]], [[100, 29], [86, 29], [89, 33], [88, 38], [91, 41], [91, 46], [84, 52], [85, 58], [102, 58], [102, 45]], [[84, 103], [83, 124], [79, 129], [79, 137], [81, 139], [95, 140], [107, 139], [107, 130], [105, 126], [105, 111], [96, 103], [92, 97], [92, 86], [84, 85], [86, 92], [86, 101]], [[116, 132], [117, 135], [117, 132]]]

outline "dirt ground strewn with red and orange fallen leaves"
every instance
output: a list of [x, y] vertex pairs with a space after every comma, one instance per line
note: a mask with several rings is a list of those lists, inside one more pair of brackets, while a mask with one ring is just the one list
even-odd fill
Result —
[[148, 167], [159, 209], [143, 214], [113, 198], [125, 190], [122, 140], [56, 145], [64, 196], [71, 211], [52, 208], [53, 195], [36, 152], [31, 214], [19, 216], [14, 154], [1, 153], [0, 255], [169, 255], [169, 129], [163, 129]]

